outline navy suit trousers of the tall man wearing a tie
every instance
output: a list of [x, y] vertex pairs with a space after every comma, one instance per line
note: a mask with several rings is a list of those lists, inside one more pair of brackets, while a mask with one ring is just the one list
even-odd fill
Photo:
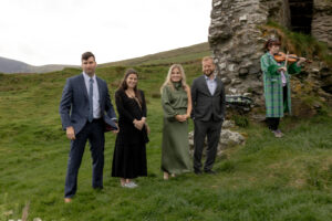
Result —
[[103, 119], [94, 119], [92, 123], [87, 122], [83, 129], [76, 135], [76, 139], [71, 140], [64, 186], [65, 198], [72, 198], [77, 190], [77, 175], [87, 140], [92, 156], [92, 187], [103, 188], [105, 144], [103, 126]]

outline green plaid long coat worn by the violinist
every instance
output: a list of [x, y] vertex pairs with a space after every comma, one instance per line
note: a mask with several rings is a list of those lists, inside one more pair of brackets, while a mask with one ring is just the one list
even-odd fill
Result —
[[287, 80], [287, 102], [283, 103], [282, 80], [278, 72], [284, 63], [278, 64], [274, 57], [267, 52], [260, 59], [261, 71], [263, 72], [264, 98], [267, 117], [283, 117], [283, 113], [291, 114], [291, 87], [289, 74], [295, 74], [301, 71], [301, 67], [293, 63], [288, 65], [288, 71], [284, 73]]

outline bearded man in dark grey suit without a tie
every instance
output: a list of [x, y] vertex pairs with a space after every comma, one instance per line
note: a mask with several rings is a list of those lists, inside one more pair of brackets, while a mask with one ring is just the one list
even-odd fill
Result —
[[204, 171], [215, 173], [212, 170], [220, 138], [221, 125], [225, 118], [225, 88], [219, 77], [216, 77], [214, 60], [210, 56], [203, 59], [204, 75], [194, 80], [191, 85], [194, 119], [194, 171], [201, 173], [201, 154], [205, 137], [208, 147]]

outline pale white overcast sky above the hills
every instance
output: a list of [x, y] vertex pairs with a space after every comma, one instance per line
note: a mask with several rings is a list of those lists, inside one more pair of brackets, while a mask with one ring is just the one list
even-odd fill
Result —
[[0, 0], [0, 56], [120, 61], [207, 42], [211, 0]]

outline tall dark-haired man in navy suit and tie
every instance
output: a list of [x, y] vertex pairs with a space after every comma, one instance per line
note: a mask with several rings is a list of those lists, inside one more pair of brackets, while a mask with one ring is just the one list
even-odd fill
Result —
[[71, 202], [77, 189], [77, 173], [86, 141], [90, 143], [93, 176], [92, 187], [103, 188], [105, 128], [117, 131], [116, 115], [107, 84], [95, 75], [95, 56], [82, 54], [83, 73], [66, 80], [60, 103], [62, 127], [71, 140], [64, 201]]

